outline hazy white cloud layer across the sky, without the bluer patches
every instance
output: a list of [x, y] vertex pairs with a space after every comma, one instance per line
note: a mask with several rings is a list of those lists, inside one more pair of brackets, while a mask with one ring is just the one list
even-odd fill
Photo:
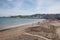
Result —
[[[13, 0], [8, 0], [9, 2]], [[27, 2], [34, 2], [32, 0], [26, 0]], [[29, 10], [21, 10], [20, 8], [22, 7], [23, 3], [26, 2], [25, 0], [22, 1], [14, 1], [12, 4], [14, 7], [12, 9], [0, 9], [0, 16], [8, 16], [8, 15], [30, 15], [30, 14], [35, 14], [35, 13], [60, 13], [60, 3], [54, 2], [54, 0], [36, 0], [36, 7], [31, 8]], [[60, 1], [59, 1], [60, 2]], [[4, 4], [5, 6], [7, 4]]]

